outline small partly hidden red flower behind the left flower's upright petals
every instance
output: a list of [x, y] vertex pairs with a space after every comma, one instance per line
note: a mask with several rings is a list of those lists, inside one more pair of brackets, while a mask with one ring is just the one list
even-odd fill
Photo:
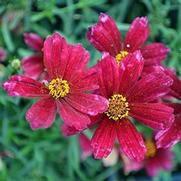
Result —
[[32, 48], [35, 53], [33, 55], [24, 57], [22, 59], [22, 69], [24, 74], [33, 79], [37, 79], [44, 72], [43, 65], [43, 39], [34, 33], [25, 33], [24, 34], [25, 43]]

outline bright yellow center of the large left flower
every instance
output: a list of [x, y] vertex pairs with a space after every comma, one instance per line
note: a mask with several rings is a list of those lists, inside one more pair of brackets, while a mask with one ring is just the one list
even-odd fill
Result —
[[48, 84], [49, 94], [52, 95], [55, 99], [59, 97], [65, 97], [69, 91], [70, 87], [66, 80], [60, 78], [52, 79]]

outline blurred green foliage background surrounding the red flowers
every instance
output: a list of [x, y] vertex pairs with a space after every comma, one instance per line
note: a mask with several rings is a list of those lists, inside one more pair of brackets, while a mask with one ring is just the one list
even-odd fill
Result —
[[[91, 53], [90, 65], [94, 65], [100, 54], [85, 35], [100, 12], [111, 15], [123, 35], [135, 17], [148, 16], [148, 42], [165, 43], [171, 49], [165, 64], [181, 75], [181, 0], [1, 0], [0, 47], [7, 51], [7, 58], [0, 64], [0, 83], [11, 74], [22, 72], [12, 64], [14, 59], [32, 53], [24, 44], [24, 32], [45, 38], [58, 31], [70, 43], [81, 42]], [[81, 162], [78, 138], [62, 136], [60, 119], [49, 129], [32, 131], [25, 120], [31, 104], [32, 100], [8, 97], [0, 88], [0, 181], [149, 179], [144, 171], [125, 176], [121, 161], [109, 168], [91, 157]], [[155, 181], [181, 180], [180, 144], [174, 152], [173, 172], [161, 172]]]

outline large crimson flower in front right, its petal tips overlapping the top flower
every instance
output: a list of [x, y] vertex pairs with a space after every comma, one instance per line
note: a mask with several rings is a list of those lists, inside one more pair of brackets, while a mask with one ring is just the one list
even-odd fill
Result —
[[124, 58], [120, 67], [111, 56], [98, 63], [99, 91], [109, 100], [109, 107], [101, 114], [91, 140], [95, 158], [107, 157], [116, 138], [129, 158], [144, 158], [146, 149], [142, 136], [129, 117], [158, 130], [172, 124], [173, 109], [162, 103], [153, 103], [168, 93], [172, 80], [163, 72], [140, 78], [143, 64], [139, 51]]

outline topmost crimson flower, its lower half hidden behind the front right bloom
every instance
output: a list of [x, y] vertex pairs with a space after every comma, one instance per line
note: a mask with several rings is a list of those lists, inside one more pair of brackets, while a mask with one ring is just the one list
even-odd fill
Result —
[[101, 13], [97, 24], [89, 29], [87, 38], [97, 50], [108, 52], [115, 57], [118, 64], [135, 50], [141, 51], [145, 65], [160, 64], [166, 58], [169, 49], [162, 43], [143, 46], [148, 35], [147, 18], [138, 17], [132, 22], [123, 42], [114, 20], [110, 16]]

